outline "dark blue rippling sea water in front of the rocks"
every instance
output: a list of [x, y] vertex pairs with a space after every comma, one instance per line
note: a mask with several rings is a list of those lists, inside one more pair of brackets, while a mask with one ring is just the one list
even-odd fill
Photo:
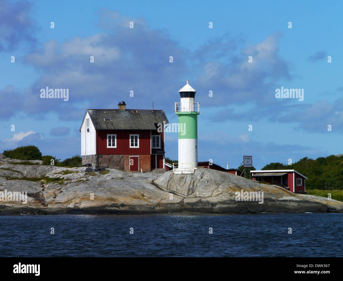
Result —
[[342, 257], [342, 221], [326, 213], [0, 216], [0, 257]]

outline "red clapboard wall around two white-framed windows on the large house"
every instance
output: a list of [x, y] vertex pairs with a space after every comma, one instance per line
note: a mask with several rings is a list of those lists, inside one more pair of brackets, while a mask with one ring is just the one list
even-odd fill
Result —
[[[117, 135], [117, 148], [107, 148], [107, 134]], [[139, 148], [130, 148], [130, 134], [139, 136]], [[149, 130], [99, 130], [98, 154], [150, 154]]]

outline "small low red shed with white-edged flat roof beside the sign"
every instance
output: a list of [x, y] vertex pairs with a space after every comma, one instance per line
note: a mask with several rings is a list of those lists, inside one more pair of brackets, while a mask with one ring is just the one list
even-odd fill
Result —
[[306, 176], [296, 170], [258, 170], [250, 171], [254, 181], [264, 181], [287, 188], [295, 193], [305, 192]]

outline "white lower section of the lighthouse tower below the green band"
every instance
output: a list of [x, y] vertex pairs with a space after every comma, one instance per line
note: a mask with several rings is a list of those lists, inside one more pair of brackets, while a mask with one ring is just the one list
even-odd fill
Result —
[[198, 169], [198, 139], [179, 139], [178, 168], [174, 169], [175, 174], [192, 174]]

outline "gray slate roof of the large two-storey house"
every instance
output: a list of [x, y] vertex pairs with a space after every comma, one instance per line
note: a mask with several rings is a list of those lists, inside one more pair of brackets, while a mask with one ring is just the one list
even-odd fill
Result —
[[[156, 130], [154, 123], [168, 124], [163, 110], [87, 109], [96, 130]], [[105, 121], [109, 116], [111, 121]]]

